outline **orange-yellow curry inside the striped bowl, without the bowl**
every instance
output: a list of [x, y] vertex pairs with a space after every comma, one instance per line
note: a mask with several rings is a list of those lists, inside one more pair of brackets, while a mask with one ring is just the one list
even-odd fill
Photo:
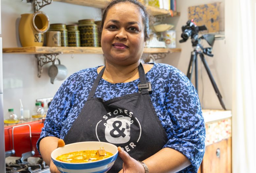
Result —
[[56, 158], [56, 160], [70, 163], [83, 163], [99, 161], [112, 155], [112, 153], [105, 150], [83, 150], [60, 155]]

